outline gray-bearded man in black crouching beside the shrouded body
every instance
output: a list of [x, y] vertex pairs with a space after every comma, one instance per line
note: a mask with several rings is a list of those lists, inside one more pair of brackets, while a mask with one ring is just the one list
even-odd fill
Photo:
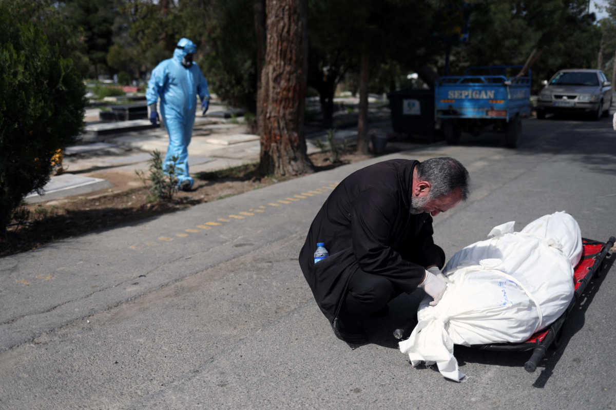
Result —
[[[468, 171], [458, 160], [394, 159], [347, 176], [318, 211], [299, 265], [336, 336], [367, 342], [363, 321], [402, 292], [421, 287], [439, 302], [447, 279], [432, 216], [466, 200]], [[314, 262], [318, 242], [330, 256]]]

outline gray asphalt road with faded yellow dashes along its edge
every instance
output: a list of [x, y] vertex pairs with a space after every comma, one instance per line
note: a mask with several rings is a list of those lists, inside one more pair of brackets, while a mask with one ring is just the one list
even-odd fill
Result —
[[[345, 165], [142, 223], [0, 259], [1, 409], [614, 409], [616, 268], [572, 312], [535, 373], [529, 353], [456, 347], [461, 383], [414, 369], [391, 303], [352, 350], [318, 310], [297, 256], [328, 192], [394, 157], [452, 156], [469, 200], [435, 219], [452, 255], [496, 224], [565, 210], [585, 237], [616, 235], [610, 118], [529, 119], [516, 150], [465, 136]], [[610, 261], [611, 261], [610, 257]]]

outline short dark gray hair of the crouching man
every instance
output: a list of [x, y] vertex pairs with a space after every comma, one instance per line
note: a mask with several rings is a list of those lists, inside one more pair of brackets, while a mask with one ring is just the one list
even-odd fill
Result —
[[417, 176], [431, 185], [429, 196], [432, 199], [451, 194], [460, 189], [462, 199], [469, 194], [470, 177], [460, 161], [450, 157], [431, 158], [417, 165]]

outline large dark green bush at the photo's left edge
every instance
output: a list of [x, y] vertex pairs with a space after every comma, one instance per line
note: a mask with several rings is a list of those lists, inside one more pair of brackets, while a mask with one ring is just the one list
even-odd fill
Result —
[[85, 86], [71, 60], [17, 6], [0, 1], [0, 232], [31, 191], [49, 181], [51, 157], [83, 128]]

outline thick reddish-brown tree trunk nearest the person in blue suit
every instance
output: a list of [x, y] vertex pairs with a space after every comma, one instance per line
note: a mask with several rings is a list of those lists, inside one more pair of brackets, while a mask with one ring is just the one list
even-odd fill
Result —
[[267, 0], [265, 65], [261, 72], [259, 132], [262, 175], [312, 171], [306, 154], [305, 0]]

